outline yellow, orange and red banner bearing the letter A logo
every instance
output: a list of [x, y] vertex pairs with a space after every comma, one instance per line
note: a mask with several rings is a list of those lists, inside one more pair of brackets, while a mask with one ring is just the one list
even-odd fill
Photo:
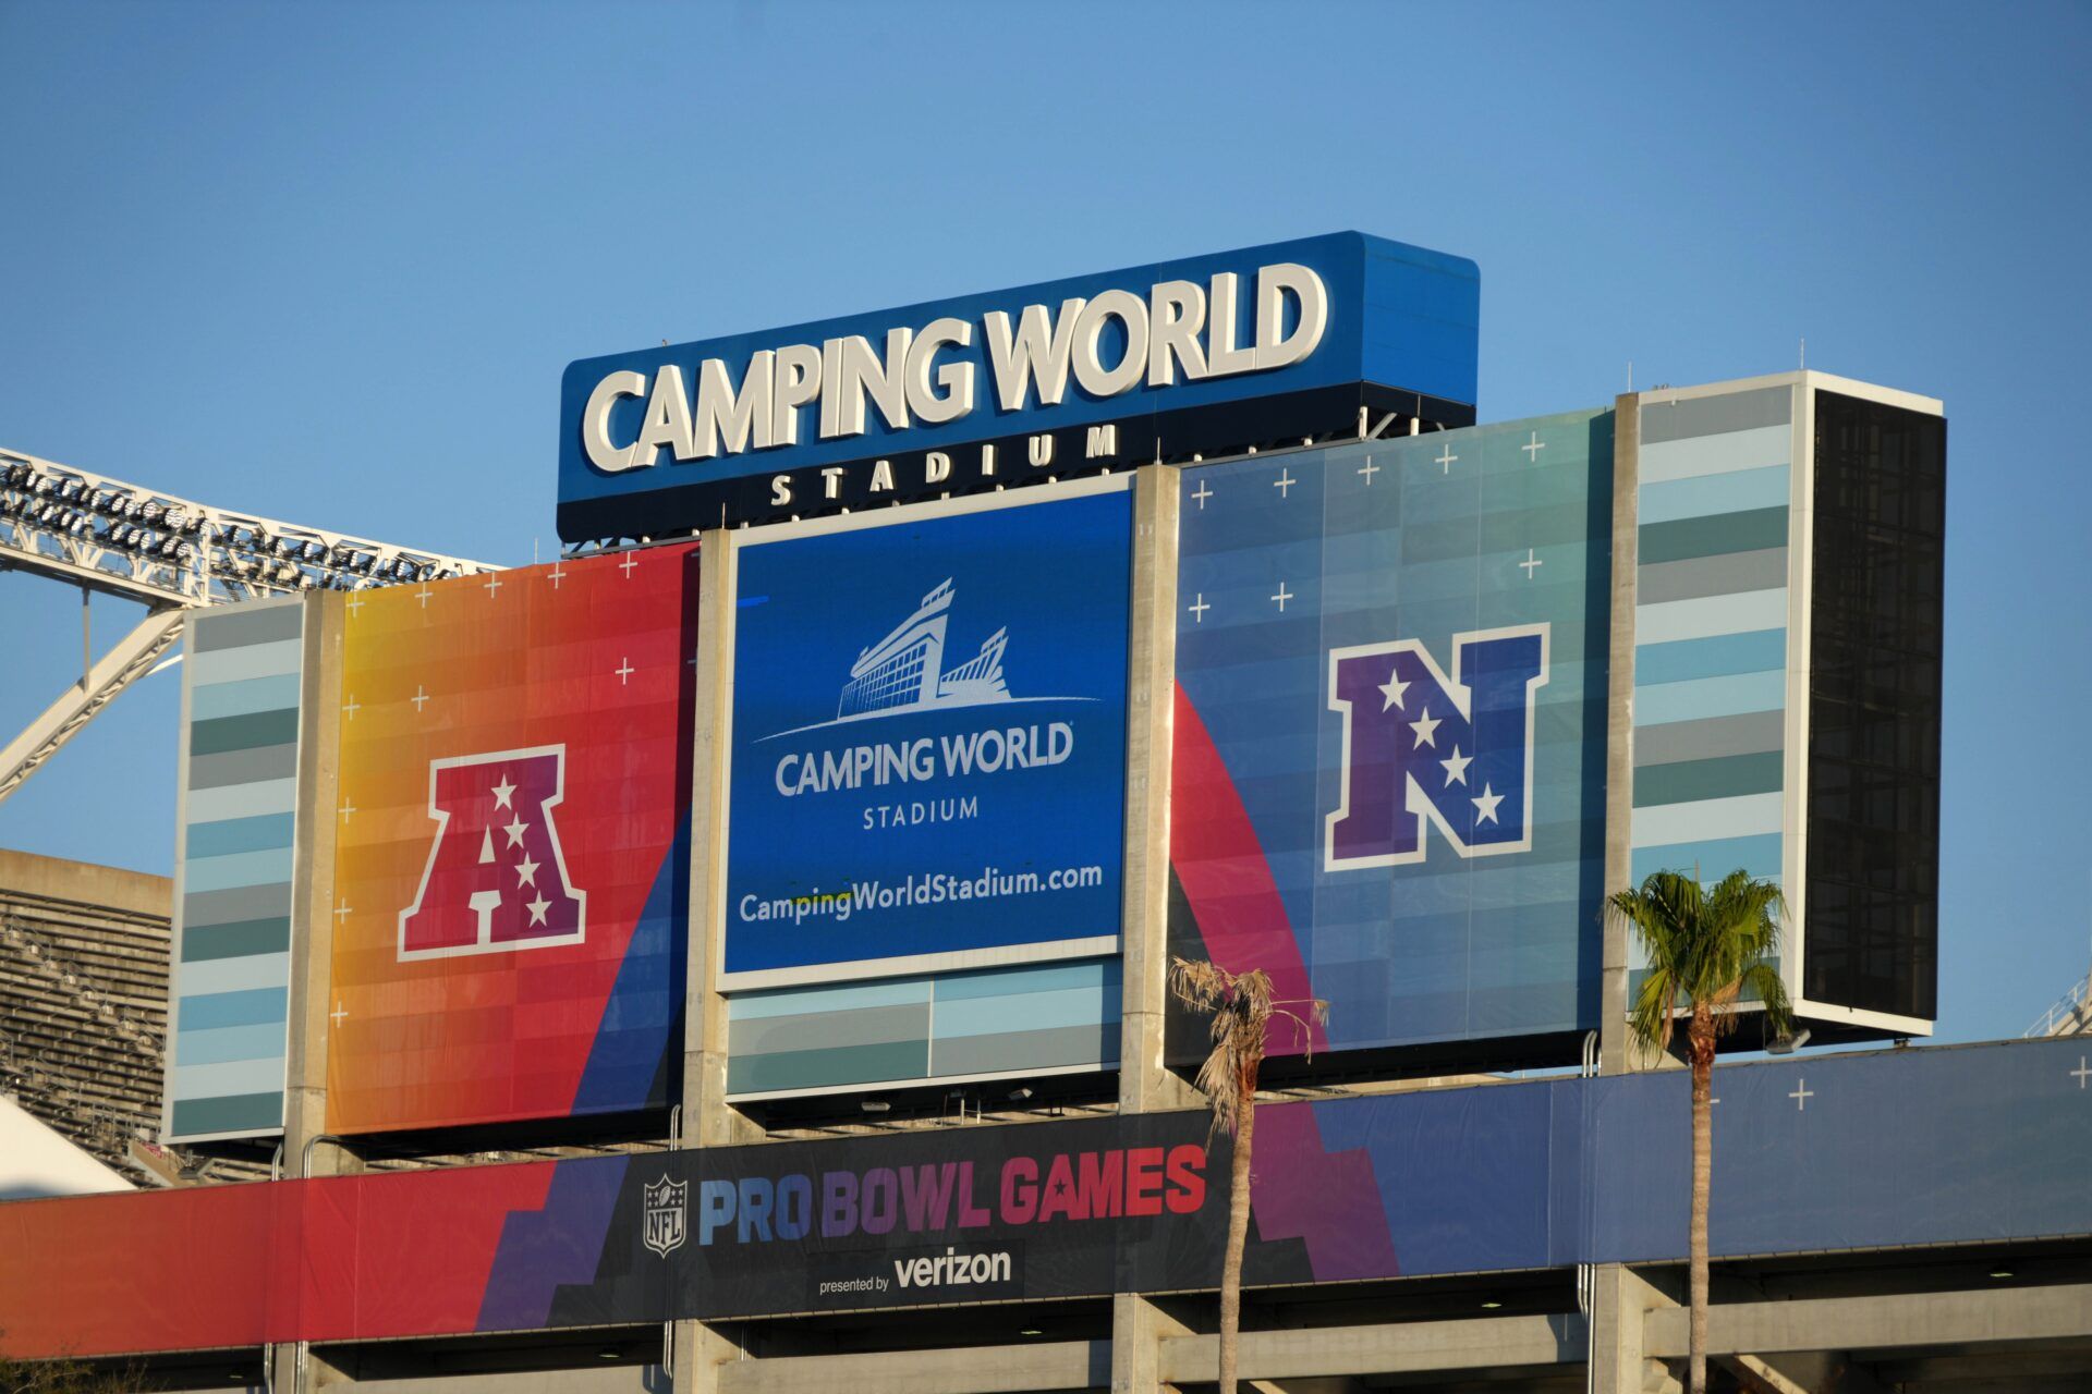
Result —
[[697, 548], [347, 600], [337, 1133], [665, 1106]]

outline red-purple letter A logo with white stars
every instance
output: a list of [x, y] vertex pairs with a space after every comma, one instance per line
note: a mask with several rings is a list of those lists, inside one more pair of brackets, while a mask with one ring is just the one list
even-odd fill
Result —
[[402, 959], [582, 943], [588, 892], [552, 823], [565, 790], [567, 746], [429, 761], [435, 842], [400, 911]]

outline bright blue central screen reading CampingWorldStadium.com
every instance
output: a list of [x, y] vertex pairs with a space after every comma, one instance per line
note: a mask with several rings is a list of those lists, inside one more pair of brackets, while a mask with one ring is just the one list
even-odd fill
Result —
[[724, 986], [1117, 949], [1130, 497], [734, 533]]

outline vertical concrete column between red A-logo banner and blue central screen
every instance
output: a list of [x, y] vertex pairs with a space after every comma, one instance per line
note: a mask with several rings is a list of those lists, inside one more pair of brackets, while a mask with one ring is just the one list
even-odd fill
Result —
[[707, 531], [697, 562], [697, 663], [690, 738], [690, 957], [684, 997], [682, 1139], [686, 1147], [759, 1141], [726, 1103], [726, 997], [720, 934], [726, 924], [726, 719], [734, 652], [734, 535]]

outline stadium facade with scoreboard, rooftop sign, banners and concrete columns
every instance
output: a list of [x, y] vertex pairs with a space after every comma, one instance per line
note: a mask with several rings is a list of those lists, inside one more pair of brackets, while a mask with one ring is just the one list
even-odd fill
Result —
[[[1266, 1066], [1245, 1375], [1661, 1388], [1684, 1083], [1600, 901], [1745, 867], [1812, 1039], [1885, 1049], [1718, 1076], [1724, 1379], [2063, 1371], [2088, 1068], [1908, 1047], [1941, 405], [1473, 424], [1477, 284], [1343, 234], [586, 359], [598, 545], [199, 614], [165, 1141], [291, 1179], [0, 1206], [0, 1342], [1199, 1386], [1228, 1141], [1180, 955], [1331, 1007]], [[464, 1152], [533, 1160], [406, 1164]]]

